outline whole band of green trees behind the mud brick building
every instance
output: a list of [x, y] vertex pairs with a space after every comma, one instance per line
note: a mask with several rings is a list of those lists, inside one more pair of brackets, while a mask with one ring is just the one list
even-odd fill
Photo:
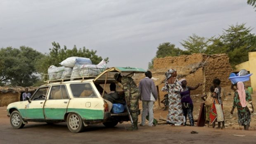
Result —
[[[256, 35], [251, 33], [251, 27], [247, 28], [245, 25], [244, 23], [231, 25], [228, 29], [223, 29], [222, 35], [218, 37], [204, 38], [192, 34], [187, 40], [180, 42], [186, 49], [184, 51], [175, 48], [175, 45], [170, 42], [160, 44], [157, 47], [156, 58], [192, 53], [226, 53], [230, 58], [230, 64], [235, 67], [237, 64], [248, 61], [248, 52], [256, 51]], [[148, 68], [152, 67], [153, 59], [148, 65]]]

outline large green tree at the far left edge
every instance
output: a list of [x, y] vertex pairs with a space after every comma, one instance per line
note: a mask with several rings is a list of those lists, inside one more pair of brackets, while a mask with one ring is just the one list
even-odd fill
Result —
[[21, 46], [19, 49], [6, 47], [0, 50], [0, 83], [11, 86], [31, 86], [39, 77], [36, 61], [42, 56], [31, 47]]

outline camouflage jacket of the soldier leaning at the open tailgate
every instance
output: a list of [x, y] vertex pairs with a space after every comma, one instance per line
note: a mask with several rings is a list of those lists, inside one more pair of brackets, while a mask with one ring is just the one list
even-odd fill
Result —
[[123, 76], [121, 83], [123, 85], [126, 102], [130, 102], [130, 99], [132, 99], [132, 97], [138, 97], [140, 95], [140, 90], [138, 89], [136, 83], [134, 83], [131, 77]]

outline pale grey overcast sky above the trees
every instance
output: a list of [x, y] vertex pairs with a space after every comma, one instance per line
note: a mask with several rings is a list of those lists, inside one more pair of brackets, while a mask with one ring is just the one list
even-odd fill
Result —
[[0, 47], [48, 53], [51, 42], [85, 46], [109, 57], [108, 67], [147, 69], [159, 44], [193, 33], [209, 38], [246, 23], [256, 33], [247, 0], [0, 0]]

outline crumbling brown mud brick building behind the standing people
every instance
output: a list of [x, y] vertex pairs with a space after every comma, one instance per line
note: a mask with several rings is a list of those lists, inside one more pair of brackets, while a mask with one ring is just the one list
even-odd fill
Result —
[[232, 72], [227, 54], [192, 54], [182, 55], [180, 57], [165, 57], [154, 59], [154, 69], [152, 69], [153, 77], [159, 78], [156, 85], [159, 85], [160, 95], [161, 87], [164, 85], [164, 72], [169, 68], [175, 68], [180, 78], [187, 80], [187, 85], [195, 86], [198, 83], [204, 83], [197, 90], [191, 91], [191, 94], [202, 94], [208, 92], [215, 78], [221, 80], [221, 86], [229, 86], [231, 84], [228, 77]]

